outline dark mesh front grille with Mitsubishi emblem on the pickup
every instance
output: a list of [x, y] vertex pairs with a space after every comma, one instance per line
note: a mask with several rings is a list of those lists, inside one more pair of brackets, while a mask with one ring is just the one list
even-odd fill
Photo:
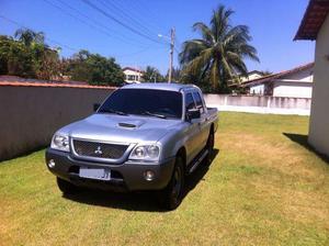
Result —
[[82, 157], [120, 159], [127, 148], [128, 145], [73, 139], [73, 149], [79, 156]]

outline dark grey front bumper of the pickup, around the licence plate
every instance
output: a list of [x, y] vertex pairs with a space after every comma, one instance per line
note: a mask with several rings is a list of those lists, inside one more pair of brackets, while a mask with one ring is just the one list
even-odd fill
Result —
[[[46, 150], [46, 164], [53, 159], [55, 167], [47, 168], [55, 176], [65, 179], [71, 183], [83, 187], [91, 187], [104, 190], [115, 191], [135, 191], [135, 190], [159, 190], [164, 188], [172, 175], [174, 158], [167, 159], [163, 163], [143, 163], [127, 160], [120, 165], [105, 163], [91, 163], [73, 158], [70, 153], [59, 152], [48, 148]], [[89, 168], [109, 168], [111, 170], [111, 180], [94, 180], [79, 177], [80, 167]], [[155, 172], [151, 181], [144, 177], [146, 170]]]

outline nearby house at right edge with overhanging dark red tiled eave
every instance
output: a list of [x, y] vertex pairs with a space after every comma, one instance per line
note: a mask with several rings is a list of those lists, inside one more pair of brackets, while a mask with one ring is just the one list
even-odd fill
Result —
[[295, 40], [316, 40], [308, 143], [329, 157], [329, 0], [310, 0]]

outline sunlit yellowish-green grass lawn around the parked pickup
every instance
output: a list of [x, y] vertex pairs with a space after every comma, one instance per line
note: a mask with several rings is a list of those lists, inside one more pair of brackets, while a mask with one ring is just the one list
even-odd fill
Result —
[[220, 113], [212, 165], [182, 204], [150, 193], [64, 198], [44, 150], [0, 164], [0, 245], [329, 245], [329, 165], [308, 118]]

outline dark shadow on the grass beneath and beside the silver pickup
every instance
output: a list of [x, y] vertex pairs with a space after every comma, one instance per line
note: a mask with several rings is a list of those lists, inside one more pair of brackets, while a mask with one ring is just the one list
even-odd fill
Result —
[[[197, 186], [200, 181], [204, 180], [205, 174], [208, 171], [209, 166], [218, 153], [218, 149], [214, 149], [209, 164], [201, 165], [192, 175], [186, 177], [183, 199]], [[155, 191], [118, 193], [112, 191], [83, 189], [77, 194], [65, 194], [64, 198], [79, 203], [123, 209], [127, 211], [166, 212], [166, 210], [160, 208], [160, 204], [157, 201], [157, 192]]]

